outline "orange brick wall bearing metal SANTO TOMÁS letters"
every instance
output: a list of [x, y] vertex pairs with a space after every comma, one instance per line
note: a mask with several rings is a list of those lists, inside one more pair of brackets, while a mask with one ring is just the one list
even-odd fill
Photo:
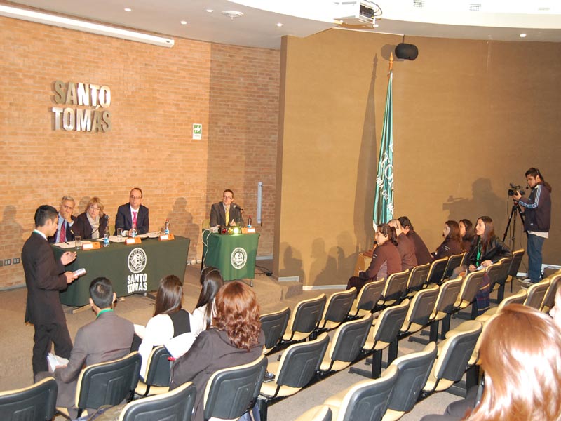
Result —
[[[255, 218], [259, 181], [258, 255], [272, 255], [278, 51], [187, 39], [162, 48], [0, 18], [0, 54], [2, 260], [20, 256], [37, 206], [70, 194], [77, 215], [100, 196], [114, 222], [133, 186], [151, 229], [170, 218], [194, 260], [210, 204], [231, 188]], [[109, 86], [111, 131], [53, 131], [57, 80]], [[193, 123], [202, 140], [191, 139]], [[23, 281], [21, 265], [0, 267], [0, 288]]]

